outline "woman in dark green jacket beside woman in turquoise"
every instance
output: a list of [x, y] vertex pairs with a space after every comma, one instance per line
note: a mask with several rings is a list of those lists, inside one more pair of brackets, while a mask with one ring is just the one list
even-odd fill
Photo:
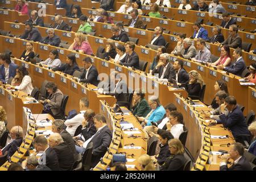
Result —
[[146, 117], [150, 112], [150, 106], [147, 104], [145, 93], [142, 89], [137, 89], [133, 93], [133, 108], [131, 111], [137, 117]]

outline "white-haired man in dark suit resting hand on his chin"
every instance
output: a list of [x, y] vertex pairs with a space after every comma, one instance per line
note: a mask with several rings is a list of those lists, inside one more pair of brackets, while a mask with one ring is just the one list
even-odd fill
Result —
[[159, 57], [158, 65], [153, 69], [152, 75], [158, 73], [159, 81], [171, 82], [175, 79], [175, 71], [172, 63], [170, 63], [170, 55], [168, 53], [162, 53]]

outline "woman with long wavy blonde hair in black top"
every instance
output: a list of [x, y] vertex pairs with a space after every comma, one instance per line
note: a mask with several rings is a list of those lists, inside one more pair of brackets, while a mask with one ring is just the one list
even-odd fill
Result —
[[199, 99], [201, 88], [204, 84], [200, 73], [195, 70], [189, 72], [189, 83], [187, 85], [188, 97]]

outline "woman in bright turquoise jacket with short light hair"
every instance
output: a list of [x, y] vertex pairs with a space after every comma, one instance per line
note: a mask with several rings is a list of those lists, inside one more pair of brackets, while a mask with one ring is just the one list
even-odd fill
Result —
[[150, 96], [148, 98], [148, 105], [150, 105], [151, 111], [147, 114], [146, 117], [137, 117], [141, 122], [141, 125], [151, 126], [151, 122], [157, 122], [163, 118], [164, 114], [166, 114], [166, 110], [164, 107], [160, 105], [159, 98], [156, 96]]

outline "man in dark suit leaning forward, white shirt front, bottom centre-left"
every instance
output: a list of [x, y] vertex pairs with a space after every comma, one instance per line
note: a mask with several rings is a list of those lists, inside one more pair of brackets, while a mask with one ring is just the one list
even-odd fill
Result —
[[107, 148], [112, 141], [112, 132], [108, 125], [106, 125], [106, 118], [103, 114], [96, 114], [94, 116], [94, 126], [97, 129], [96, 134], [85, 142], [82, 142], [81, 140], [77, 141], [82, 147], [81, 153], [85, 151], [85, 148], [89, 143], [93, 143], [91, 167], [95, 167], [96, 164], [100, 162], [100, 159], [105, 155]]

